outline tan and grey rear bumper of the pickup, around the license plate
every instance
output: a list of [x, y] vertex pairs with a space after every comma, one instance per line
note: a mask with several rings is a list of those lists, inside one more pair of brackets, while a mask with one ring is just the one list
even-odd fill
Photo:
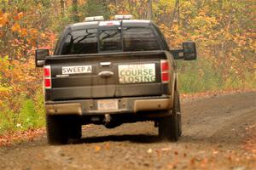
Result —
[[172, 108], [172, 96], [119, 98], [118, 110], [101, 111], [98, 109], [98, 99], [48, 101], [45, 103], [49, 115], [104, 115], [137, 113], [140, 111], [165, 111]]

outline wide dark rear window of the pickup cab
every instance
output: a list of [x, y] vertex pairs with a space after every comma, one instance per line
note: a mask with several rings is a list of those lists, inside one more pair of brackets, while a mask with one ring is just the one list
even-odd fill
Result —
[[121, 51], [159, 50], [160, 45], [151, 28], [124, 27], [71, 31], [61, 54], [97, 54]]

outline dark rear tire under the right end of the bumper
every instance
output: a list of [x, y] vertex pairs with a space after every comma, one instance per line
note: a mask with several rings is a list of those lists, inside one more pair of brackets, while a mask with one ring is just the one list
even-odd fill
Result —
[[176, 92], [174, 95], [172, 115], [160, 118], [158, 127], [160, 139], [177, 141], [181, 133], [181, 116], [178, 116], [177, 111], [178, 94]]

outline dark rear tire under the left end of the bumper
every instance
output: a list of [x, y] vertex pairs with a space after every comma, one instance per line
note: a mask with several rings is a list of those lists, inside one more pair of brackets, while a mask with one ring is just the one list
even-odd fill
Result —
[[46, 115], [48, 144], [67, 144], [67, 123], [63, 116]]

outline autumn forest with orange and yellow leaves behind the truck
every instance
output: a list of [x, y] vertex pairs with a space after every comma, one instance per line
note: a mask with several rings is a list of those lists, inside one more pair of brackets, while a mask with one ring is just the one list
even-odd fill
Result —
[[0, 0], [0, 135], [44, 126], [36, 48], [51, 52], [61, 30], [86, 16], [154, 20], [171, 48], [195, 41], [198, 59], [178, 61], [181, 94], [255, 89], [254, 0]]

